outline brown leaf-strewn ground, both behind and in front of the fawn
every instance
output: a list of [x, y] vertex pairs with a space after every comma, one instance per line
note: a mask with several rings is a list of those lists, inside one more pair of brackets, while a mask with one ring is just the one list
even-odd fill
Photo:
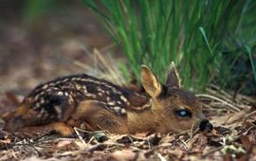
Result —
[[[47, 15], [32, 26], [25, 25], [21, 16], [2, 17], [0, 35], [1, 114], [16, 108], [16, 98], [41, 82], [86, 72], [84, 64], [93, 65], [89, 56], [93, 49], [113, 45], [90, 11], [77, 6]], [[213, 134], [77, 130], [78, 138], [0, 135], [0, 160], [256, 160], [255, 98], [233, 99], [232, 93], [215, 86], [197, 96], [215, 127]]]

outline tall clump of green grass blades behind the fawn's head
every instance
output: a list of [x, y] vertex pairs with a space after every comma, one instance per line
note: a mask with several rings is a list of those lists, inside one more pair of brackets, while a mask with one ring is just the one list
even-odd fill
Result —
[[138, 80], [140, 64], [149, 65], [164, 81], [168, 65], [174, 61], [186, 88], [200, 90], [209, 82], [225, 85], [242, 56], [251, 64], [246, 73], [253, 73], [255, 78], [253, 0], [82, 2], [99, 15]]

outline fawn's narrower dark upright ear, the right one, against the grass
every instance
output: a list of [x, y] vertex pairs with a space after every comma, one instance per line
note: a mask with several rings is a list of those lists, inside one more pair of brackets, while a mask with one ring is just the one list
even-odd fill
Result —
[[180, 79], [178, 77], [178, 73], [175, 68], [174, 62], [170, 63], [169, 69], [168, 69], [168, 75], [166, 80], [166, 86], [168, 87], [177, 87], [180, 88]]

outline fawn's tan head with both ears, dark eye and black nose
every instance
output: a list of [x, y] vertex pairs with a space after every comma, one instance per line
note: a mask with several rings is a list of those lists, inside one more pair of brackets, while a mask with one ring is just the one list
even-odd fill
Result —
[[165, 123], [170, 131], [179, 133], [192, 127], [199, 127], [201, 131], [212, 130], [212, 125], [202, 113], [200, 102], [191, 92], [181, 88], [173, 62], [165, 84], [161, 84], [152, 71], [142, 65], [141, 83], [152, 98], [152, 110], [159, 116], [167, 116], [164, 119], [168, 121]]

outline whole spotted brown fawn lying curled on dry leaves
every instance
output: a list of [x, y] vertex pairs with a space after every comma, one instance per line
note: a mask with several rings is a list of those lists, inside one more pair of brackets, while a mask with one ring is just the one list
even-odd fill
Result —
[[181, 88], [173, 62], [165, 84], [142, 65], [141, 83], [147, 96], [85, 74], [46, 82], [9, 116], [4, 130], [47, 129], [63, 136], [74, 134], [74, 126], [114, 134], [212, 130], [199, 101]]

